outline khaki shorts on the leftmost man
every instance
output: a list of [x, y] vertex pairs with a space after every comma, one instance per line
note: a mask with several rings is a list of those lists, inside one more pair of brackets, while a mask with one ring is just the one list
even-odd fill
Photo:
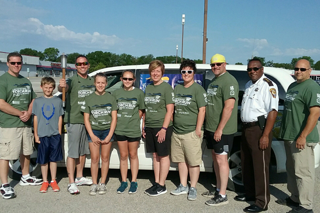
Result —
[[0, 159], [16, 160], [19, 154], [31, 155], [33, 152], [31, 127], [0, 127]]

